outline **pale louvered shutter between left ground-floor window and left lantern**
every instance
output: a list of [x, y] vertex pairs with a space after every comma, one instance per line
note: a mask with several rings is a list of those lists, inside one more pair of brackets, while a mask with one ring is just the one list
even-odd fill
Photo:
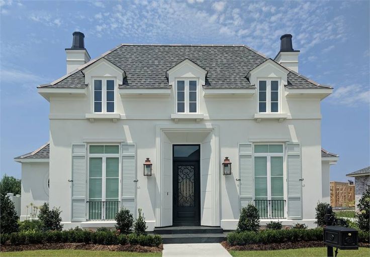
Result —
[[132, 143], [122, 145], [122, 208], [130, 210], [136, 217], [136, 146]]

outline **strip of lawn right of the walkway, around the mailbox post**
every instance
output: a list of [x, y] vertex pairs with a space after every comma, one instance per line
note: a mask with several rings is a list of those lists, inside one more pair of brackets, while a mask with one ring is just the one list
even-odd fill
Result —
[[[334, 248], [335, 250], [335, 248]], [[326, 256], [326, 247], [317, 248], [299, 248], [288, 250], [272, 250], [272, 251], [230, 251], [234, 257], [247, 257], [247, 256], [273, 256], [273, 257], [296, 257], [296, 256]], [[335, 254], [335, 252], [334, 252]], [[354, 256], [370, 256], [370, 248], [360, 247], [358, 250], [338, 250], [340, 257], [354, 257]]]

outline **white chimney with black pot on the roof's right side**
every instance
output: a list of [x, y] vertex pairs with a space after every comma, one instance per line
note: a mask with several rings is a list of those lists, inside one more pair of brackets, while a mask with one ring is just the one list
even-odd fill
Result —
[[299, 50], [293, 49], [292, 37], [293, 36], [291, 34], [281, 36], [280, 52], [276, 55], [274, 60], [281, 65], [298, 72]]

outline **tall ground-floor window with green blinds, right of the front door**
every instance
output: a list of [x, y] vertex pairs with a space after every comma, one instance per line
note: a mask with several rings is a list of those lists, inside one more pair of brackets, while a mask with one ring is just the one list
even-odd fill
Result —
[[254, 197], [262, 216], [284, 216], [283, 164], [282, 144], [254, 145]]

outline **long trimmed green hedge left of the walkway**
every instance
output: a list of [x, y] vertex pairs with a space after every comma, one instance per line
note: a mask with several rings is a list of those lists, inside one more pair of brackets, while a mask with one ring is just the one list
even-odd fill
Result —
[[116, 231], [89, 231], [81, 228], [63, 231], [37, 231], [28, 230], [1, 234], [1, 241], [4, 244], [10, 241], [12, 245], [31, 243], [94, 243], [94, 244], [140, 244], [142, 246], [159, 246], [162, 243], [160, 235], [137, 235], [118, 234]]

